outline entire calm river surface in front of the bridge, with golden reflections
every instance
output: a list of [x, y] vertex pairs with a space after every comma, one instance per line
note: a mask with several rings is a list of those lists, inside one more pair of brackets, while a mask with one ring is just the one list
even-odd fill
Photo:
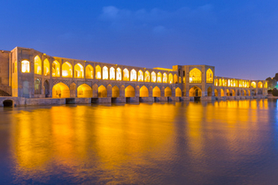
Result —
[[0, 108], [0, 184], [278, 184], [276, 100]]

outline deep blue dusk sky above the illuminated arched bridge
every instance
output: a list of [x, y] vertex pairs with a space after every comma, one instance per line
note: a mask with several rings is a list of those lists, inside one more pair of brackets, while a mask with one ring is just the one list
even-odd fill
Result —
[[139, 67], [207, 64], [215, 75], [278, 72], [278, 1], [2, 0], [0, 49]]

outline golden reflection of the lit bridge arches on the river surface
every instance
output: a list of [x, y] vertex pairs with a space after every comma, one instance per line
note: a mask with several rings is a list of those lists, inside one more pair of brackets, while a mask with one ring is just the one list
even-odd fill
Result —
[[151, 177], [136, 173], [136, 167], [178, 162], [179, 155], [192, 172], [218, 174], [221, 169], [210, 169], [211, 157], [206, 159], [211, 151], [223, 152], [220, 160], [259, 155], [254, 148], [264, 139], [258, 132], [269, 121], [267, 109], [267, 100], [228, 100], [21, 110], [11, 130], [15, 174], [45, 182], [58, 168], [72, 178], [137, 183], [142, 175]]

